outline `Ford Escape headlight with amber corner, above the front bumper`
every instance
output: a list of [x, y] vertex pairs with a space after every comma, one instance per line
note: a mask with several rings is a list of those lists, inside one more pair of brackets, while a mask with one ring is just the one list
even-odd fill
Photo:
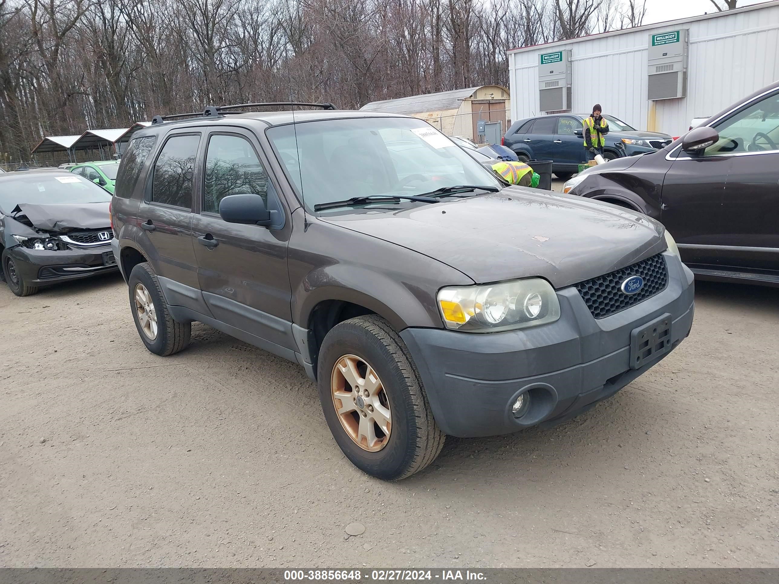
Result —
[[446, 328], [464, 332], [523, 329], [560, 318], [557, 294], [541, 278], [442, 288], [438, 303]]

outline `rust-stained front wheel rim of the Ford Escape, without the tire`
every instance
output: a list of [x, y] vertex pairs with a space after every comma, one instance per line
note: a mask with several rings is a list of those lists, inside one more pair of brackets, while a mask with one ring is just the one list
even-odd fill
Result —
[[356, 355], [344, 355], [330, 377], [333, 407], [354, 444], [379, 452], [390, 441], [392, 413], [384, 385], [374, 368]]

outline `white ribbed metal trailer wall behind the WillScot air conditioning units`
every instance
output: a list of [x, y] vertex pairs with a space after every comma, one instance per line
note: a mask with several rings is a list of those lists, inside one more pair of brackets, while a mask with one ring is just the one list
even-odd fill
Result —
[[[649, 35], [689, 29], [687, 97], [647, 101]], [[539, 55], [572, 51], [573, 113], [594, 104], [640, 129], [680, 135], [692, 118], [710, 116], [779, 79], [779, 1], [617, 33], [509, 51], [511, 118], [538, 115]]]

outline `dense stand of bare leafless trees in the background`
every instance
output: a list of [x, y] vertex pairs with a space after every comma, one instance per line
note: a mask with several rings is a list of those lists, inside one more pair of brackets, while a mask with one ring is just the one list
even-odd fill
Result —
[[41, 135], [249, 101], [509, 84], [507, 51], [640, 24], [644, 0], [0, 0], [0, 163]]

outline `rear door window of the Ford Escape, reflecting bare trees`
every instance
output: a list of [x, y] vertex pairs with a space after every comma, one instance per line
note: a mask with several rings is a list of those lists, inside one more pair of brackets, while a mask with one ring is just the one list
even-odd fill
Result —
[[199, 134], [172, 135], [154, 163], [150, 202], [192, 209], [192, 176]]

